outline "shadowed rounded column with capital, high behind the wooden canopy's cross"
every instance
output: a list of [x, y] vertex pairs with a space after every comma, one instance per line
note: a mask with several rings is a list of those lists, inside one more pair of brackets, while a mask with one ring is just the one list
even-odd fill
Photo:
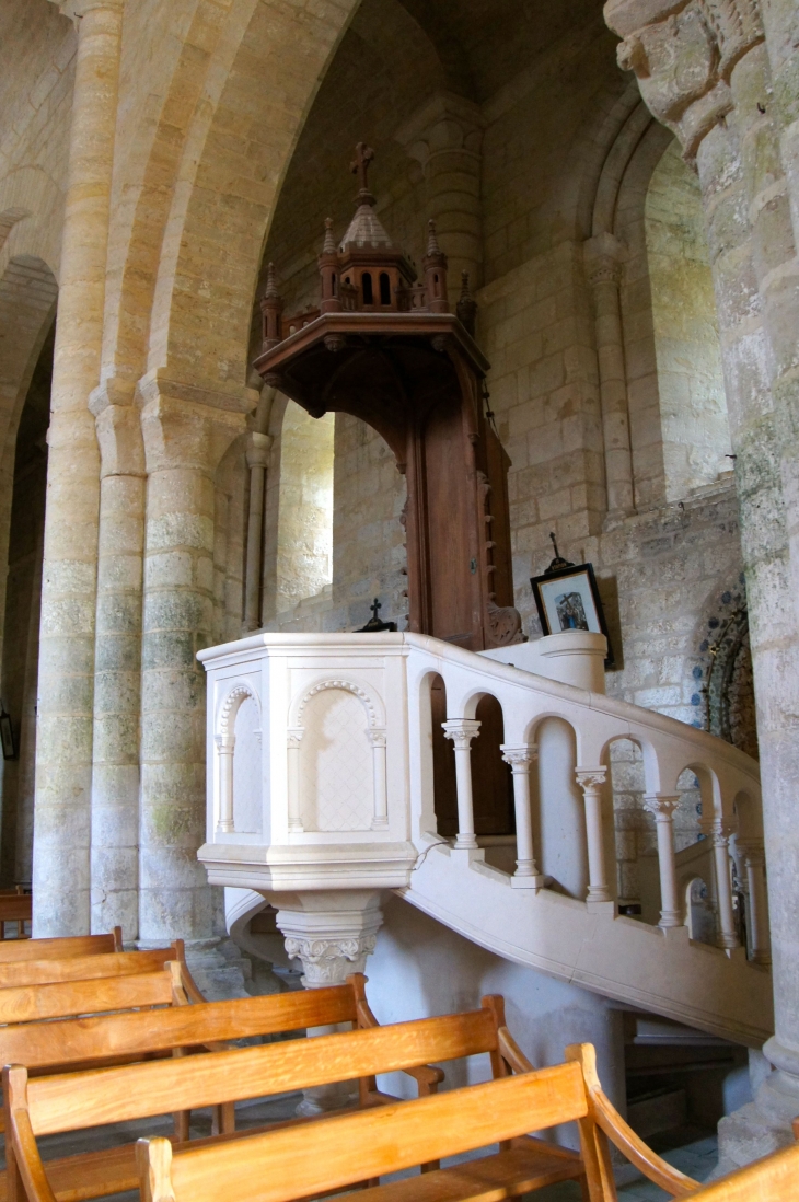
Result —
[[428, 180], [428, 215], [435, 220], [439, 243], [449, 260], [451, 292], [461, 272], [469, 272], [472, 288], [483, 282], [479, 192], [484, 125], [477, 105], [452, 93], [437, 93], [394, 135], [422, 165]]

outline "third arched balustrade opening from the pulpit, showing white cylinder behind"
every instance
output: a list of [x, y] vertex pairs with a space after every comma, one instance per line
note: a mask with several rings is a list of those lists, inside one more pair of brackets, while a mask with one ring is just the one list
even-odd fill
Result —
[[577, 737], [562, 718], [544, 718], [527, 740], [538, 746], [530, 772], [532, 843], [547, 887], [584, 902], [589, 887], [585, 801], [577, 784]]

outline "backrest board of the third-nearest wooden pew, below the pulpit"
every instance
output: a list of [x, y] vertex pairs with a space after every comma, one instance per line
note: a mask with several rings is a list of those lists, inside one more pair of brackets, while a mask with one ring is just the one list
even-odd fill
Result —
[[0, 1064], [67, 1067], [87, 1060], [356, 1020], [356, 998], [350, 986], [209, 1001], [202, 1006], [65, 1018], [60, 1023], [0, 1028]]

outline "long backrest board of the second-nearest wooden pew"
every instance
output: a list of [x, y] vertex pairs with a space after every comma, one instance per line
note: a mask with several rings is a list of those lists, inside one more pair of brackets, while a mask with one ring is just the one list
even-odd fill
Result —
[[[353, 1081], [496, 1048], [495, 1014], [478, 1010], [214, 1055], [38, 1077], [28, 1081], [28, 1109], [34, 1133], [50, 1135]], [[13, 1111], [16, 1084], [7, 1096]]]

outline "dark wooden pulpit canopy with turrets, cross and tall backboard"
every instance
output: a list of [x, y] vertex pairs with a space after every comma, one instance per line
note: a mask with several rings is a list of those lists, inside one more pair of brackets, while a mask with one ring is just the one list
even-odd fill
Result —
[[372, 157], [359, 143], [358, 208], [338, 248], [327, 221], [318, 310], [285, 319], [270, 266], [255, 367], [312, 417], [352, 413], [394, 452], [407, 480], [410, 630], [471, 650], [519, 642], [511, 462], [484, 413], [489, 363], [470, 333], [469, 281], [449, 311], [447, 257], [430, 222], [424, 281], [417, 282], [375, 214], [366, 179]]

